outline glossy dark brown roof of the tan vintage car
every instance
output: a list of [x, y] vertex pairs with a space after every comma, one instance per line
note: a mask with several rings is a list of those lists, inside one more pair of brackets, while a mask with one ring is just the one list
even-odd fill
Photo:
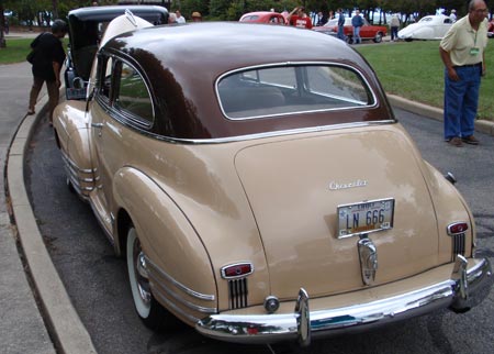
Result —
[[[381, 87], [367, 62], [333, 36], [290, 26], [238, 22], [164, 25], [122, 34], [106, 45], [127, 54], [143, 68], [161, 110], [180, 120], [177, 131], [158, 134], [182, 139], [245, 134], [392, 119]], [[289, 62], [330, 62], [358, 68], [377, 95], [374, 108], [301, 117], [231, 121], [221, 112], [215, 81], [224, 73]], [[183, 125], [183, 126], [181, 126]]]

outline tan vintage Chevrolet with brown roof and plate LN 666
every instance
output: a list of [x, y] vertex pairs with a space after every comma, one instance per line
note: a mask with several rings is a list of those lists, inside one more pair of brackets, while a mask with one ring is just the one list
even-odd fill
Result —
[[238, 22], [116, 34], [127, 22], [146, 26], [109, 25], [54, 130], [147, 325], [307, 345], [489, 294], [465, 201], [346, 43]]

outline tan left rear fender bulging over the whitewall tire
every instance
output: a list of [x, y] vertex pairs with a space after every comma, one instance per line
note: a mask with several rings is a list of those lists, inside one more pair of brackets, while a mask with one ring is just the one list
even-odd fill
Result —
[[[191, 325], [216, 312], [216, 279], [210, 256], [180, 208], [135, 168], [120, 169], [113, 181], [117, 214], [128, 214], [136, 228], [155, 298]], [[119, 231], [124, 226], [120, 221], [117, 218]]]

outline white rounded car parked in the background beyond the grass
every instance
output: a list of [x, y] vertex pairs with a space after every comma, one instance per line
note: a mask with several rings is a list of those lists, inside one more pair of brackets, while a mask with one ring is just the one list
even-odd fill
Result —
[[398, 38], [413, 40], [441, 40], [451, 27], [452, 20], [444, 14], [428, 15], [417, 23], [412, 23], [398, 32]]

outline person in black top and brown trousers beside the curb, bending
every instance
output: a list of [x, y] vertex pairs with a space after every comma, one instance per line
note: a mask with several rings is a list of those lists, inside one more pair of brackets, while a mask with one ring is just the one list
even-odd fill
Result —
[[58, 104], [60, 87], [60, 68], [65, 60], [65, 52], [61, 38], [67, 34], [67, 24], [63, 20], [55, 20], [52, 33], [40, 34], [32, 43], [33, 57], [33, 86], [30, 92], [30, 106], [27, 114], [34, 114], [37, 96], [46, 82], [48, 91], [49, 123], [53, 122], [53, 111]]

